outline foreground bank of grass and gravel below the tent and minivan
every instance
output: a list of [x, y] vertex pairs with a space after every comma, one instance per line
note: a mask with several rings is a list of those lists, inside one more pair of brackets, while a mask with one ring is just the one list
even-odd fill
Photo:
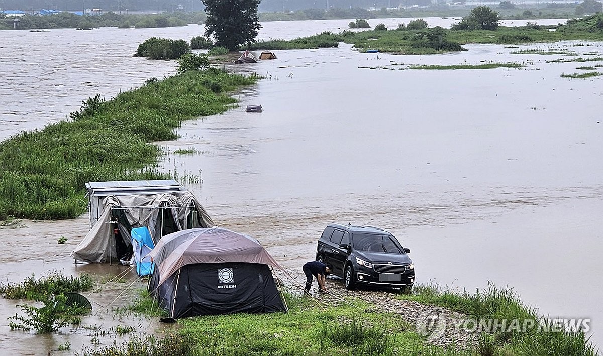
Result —
[[449, 339], [447, 344], [434, 341], [431, 335], [420, 334], [418, 314], [451, 314], [438, 307], [478, 320], [519, 320], [520, 323], [542, 320], [535, 309], [523, 305], [510, 289], [490, 286], [467, 293], [442, 292], [423, 286], [408, 296], [341, 289], [335, 293], [346, 293], [347, 302], [329, 295], [313, 299], [286, 294], [287, 314], [181, 319], [178, 328], [166, 339], [135, 337], [122, 345], [86, 349], [84, 355], [130, 355], [143, 348], [155, 350], [150, 355], [162, 352], [172, 355], [596, 355], [581, 332], [547, 332], [534, 328], [473, 333], [473, 337], [456, 339], [455, 335], [447, 335], [447, 327], [443, 330], [443, 337]]

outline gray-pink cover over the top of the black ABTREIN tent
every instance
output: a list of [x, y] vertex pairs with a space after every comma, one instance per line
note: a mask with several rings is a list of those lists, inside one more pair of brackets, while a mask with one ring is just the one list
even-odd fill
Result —
[[163, 236], [147, 257], [159, 267], [158, 286], [187, 264], [247, 262], [283, 269], [256, 239], [223, 228], [190, 229]]

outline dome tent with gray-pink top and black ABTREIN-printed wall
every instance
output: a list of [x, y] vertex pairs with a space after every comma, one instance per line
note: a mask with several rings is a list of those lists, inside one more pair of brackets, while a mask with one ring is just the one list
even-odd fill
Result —
[[163, 236], [149, 292], [169, 317], [286, 311], [269, 266], [282, 267], [252, 237], [222, 228]]

